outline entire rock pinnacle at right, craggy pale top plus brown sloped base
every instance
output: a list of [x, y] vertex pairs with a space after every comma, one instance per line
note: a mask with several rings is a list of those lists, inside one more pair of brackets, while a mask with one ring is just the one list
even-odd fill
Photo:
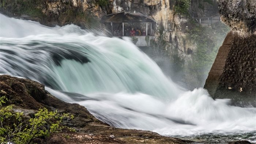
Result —
[[221, 19], [233, 31], [227, 34], [204, 85], [213, 98], [230, 98], [238, 106], [256, 106], [255, 5], [250, 0], [219, 0]]

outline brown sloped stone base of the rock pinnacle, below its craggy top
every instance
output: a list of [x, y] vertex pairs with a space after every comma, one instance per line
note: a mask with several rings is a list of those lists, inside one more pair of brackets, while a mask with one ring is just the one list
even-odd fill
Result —
[[206, 79], [213, 98], [230, 98], [237, 106], [256, 106], [256, 35], [230, 31]]

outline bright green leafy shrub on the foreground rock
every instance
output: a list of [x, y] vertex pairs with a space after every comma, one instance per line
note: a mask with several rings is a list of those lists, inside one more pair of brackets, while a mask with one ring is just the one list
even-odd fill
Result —
[[47, 137], [51, 133], [59, 132], [64, 128], [61, 124], [64, 119], [73, 119], [70, 114], [59, 114], [56, 111], [39, 109], [33, 118], [23, 113], [14, 112], [13, 106], [3, 106], [7, 99], [0, 97], [0, 143], [27, 144], [33, 139]]

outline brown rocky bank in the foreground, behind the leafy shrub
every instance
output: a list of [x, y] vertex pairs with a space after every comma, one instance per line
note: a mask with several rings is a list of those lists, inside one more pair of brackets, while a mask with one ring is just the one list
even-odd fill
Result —
[[[63, 130], [61, 133], [50, 135], [47, 139], [35, 139], [35, 143], [184, 144], [191, 142], [172, 137], [164, 137], [150, 131], [113, 128], [97, 120], [85, 107], [75, 103], [63, 102], [46, 91], [44, 85], [29, 79], [0, 75], [0, 95], [6, 96], [9, 99], [8, 104], [15, 105], [15, 111], [23, 111], [24, 114], [35, 113], [39, 108], [46, 107], [49, 110], [57, 109], [59, 112], [71, 113], [75, 116], [74, 120], [67, 121], [66, 125], [75, 128], [79, 132]], [[90, 133], [93, 133], [95, 136], [89, 135]], [[116, 136], [116, 139], [109, 137], [111, 133]]]

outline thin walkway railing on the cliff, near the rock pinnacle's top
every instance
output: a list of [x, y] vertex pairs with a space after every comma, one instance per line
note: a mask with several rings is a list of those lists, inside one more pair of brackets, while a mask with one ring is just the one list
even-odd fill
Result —
[[219, 14], [215, 14], [208, 18], [193, 18], [196, 20], [197, 23], [201, 24], [202, 26], [211, 26], [212, 23], [217, 23], [221, 21]]

